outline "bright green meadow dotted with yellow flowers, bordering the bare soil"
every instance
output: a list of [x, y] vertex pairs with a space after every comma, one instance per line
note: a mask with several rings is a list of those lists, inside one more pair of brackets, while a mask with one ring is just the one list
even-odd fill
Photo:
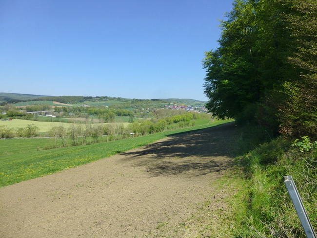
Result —
[[52, 150], [41, 149], [54, 143], [54, 139], [2, 139], [0, 140], [0, 187], [110, 157], [173, 134], [208, 128], [230, 121], [232, 120], [209, 123], [204, 121], [203, 123], [201, 120], [195, 127]]

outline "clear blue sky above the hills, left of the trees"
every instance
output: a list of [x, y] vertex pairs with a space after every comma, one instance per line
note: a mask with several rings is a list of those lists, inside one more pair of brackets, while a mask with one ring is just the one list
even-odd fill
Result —
[[0, 92], [207, 100], [233, 0], [0, 0]]

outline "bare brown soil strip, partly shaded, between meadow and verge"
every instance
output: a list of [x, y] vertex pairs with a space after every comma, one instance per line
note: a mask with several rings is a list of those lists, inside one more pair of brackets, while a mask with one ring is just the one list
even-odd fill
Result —
[[[229, 123], [180, 134], [1, 188], [0, 237], [185, 238], [210, 237], [213, 230], [217, 234], [221, 224], [216, 211], [226, 209], [221, 199], [234, 191], [219, 193], [215, 181], [233, 166], [235, 131]], [[199, 213], [201, 207], [207, 212]]]

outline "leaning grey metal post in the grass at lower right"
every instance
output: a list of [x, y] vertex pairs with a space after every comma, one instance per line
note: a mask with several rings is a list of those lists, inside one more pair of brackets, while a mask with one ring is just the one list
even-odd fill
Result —
[[309, 220], [309, 217], [307, 215], [303, 202], [299, 196], [297, 187], [295, 185], [295, 182], [292, 176], [285, 176], [284, 179], [285, 179], [284, 182], [285, 182], [286, 188], [292, 198], [294, 207], [296, 209], [301, 225], [304, 228], [307, 238], [316, 238], [314, 228], [312, 226], [312, 223]]

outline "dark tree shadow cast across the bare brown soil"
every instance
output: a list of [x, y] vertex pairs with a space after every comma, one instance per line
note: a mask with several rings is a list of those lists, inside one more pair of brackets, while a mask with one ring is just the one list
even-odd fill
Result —
[[184, 172], [200, 176], [232, 167], [236, 139], [237, 128], [231, 122], [173, 135], [121, 156], [123, 162], [132, 162], [132, 166], [145, 166], [152, 176]]

